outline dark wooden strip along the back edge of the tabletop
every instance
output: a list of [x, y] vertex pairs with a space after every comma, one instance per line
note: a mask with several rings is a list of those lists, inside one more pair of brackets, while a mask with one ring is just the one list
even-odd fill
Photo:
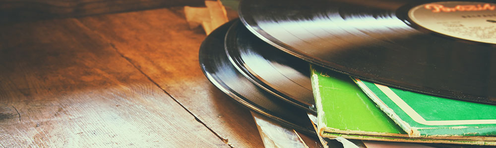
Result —
[[0, 0], [0, 23], [181, 5], [200, 6], [203, 3], [204, 0]]

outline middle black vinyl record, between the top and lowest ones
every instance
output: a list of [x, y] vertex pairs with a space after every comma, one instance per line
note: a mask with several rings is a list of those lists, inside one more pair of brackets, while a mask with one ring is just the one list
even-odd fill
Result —
[[235, 23], [225, 40], [233, 66], [269, 93], [316, 114], [309, 63], [289, 55]]

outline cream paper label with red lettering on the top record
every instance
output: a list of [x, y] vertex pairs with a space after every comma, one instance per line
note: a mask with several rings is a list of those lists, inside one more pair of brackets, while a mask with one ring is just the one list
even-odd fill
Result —
[[417, 25], [433, 32], [496, 44], [496, 4], [442, 1], [413, 7], [408, 12]]

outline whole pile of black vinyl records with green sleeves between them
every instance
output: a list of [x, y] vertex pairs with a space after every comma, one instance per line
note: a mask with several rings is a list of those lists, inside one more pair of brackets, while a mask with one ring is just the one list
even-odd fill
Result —
[[252, 111], [323, 138], [496, 146], [495, 1], [244, 0], [239, 16], [199, 61]]

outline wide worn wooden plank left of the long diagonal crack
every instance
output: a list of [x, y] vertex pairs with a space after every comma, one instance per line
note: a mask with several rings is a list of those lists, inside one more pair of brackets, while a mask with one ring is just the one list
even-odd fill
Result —
[[0, 32], [0, 147], [229, 148], [78, 20]]

